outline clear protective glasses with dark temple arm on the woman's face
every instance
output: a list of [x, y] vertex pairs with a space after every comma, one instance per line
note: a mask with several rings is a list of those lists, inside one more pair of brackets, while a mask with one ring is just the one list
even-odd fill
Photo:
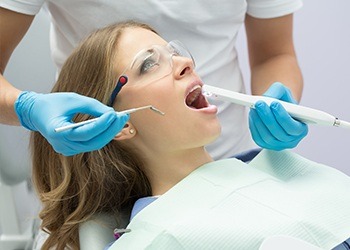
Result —
[[173, 72], [173, 56], [181, 56], [191, 59], [193, 68], [195, 61], [188, 49], [178, 40], [170, 41], [167, 45], [153, 45], [148, 49], [139, 51], [131, 64], [123, 71], [118, 78], [117, 85], [112, 92], [109, 106], [127, 83], [137, 84], [152, 83], [168, 76]]

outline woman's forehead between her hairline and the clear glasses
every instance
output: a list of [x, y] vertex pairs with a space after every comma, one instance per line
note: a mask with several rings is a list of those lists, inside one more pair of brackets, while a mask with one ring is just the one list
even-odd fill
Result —
[[[124, 70], [135, 55], [152, 45], [166, 45], [167, 42], [153, 31], [143, 28], [126, 28], [118, 42], [117, 65], [118, 71]], [[120, 72], [121, 73], [121, 72]]]

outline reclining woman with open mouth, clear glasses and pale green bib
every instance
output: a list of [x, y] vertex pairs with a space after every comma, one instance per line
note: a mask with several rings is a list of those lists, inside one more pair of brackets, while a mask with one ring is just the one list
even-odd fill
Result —
[[121, 229], [118, 218], [131, 211], [110, 249], [258, 249], [274, 235], [324, 249], [346, 244], [348, 176], [290, 151], [263, 150], [249, 164], [213, 161], [204, 147], [220, 134], [217, 108], [201, 95], [194, 65], [181, 43], [133, 22], [96, 31], [69, 57], [54, 92], [165, 115], [134, 113], [106, 147], [72, 157], [34, 132], [43, 249], [79, 249], [79, 225], [109, 214]]

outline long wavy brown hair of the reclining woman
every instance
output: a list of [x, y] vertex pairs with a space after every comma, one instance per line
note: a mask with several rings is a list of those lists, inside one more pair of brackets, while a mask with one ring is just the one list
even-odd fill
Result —
[[[118, 39], [124, 29], [133, 27], [155, 32], [136, 22], [95, 31], [67, 59], [53, 92], [75, 92], [107, 104], [117, 78], [116, 54], [122, 49], [117, 48]], [[75, 120], [87, 118], [79, 115]], [[137, 198], [151, 194], [142, 158], [120, 142], [65, 157], [40, 133], [33, 132], [31, 146], [33, 183], [43, 205], [41, 227], [49, 233], [42, 249], [79, 249], [79, 223], [99, 213], [117, 218], [129, 211]]]

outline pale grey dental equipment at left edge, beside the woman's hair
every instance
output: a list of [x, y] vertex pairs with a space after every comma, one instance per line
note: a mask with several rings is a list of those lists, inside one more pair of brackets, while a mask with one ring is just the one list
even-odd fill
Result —
[[39, 203], [30, 185], [28, 133], [0, 125], [0, 250], [31, 249]]

